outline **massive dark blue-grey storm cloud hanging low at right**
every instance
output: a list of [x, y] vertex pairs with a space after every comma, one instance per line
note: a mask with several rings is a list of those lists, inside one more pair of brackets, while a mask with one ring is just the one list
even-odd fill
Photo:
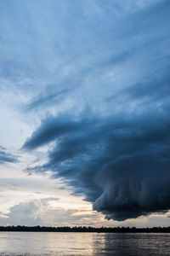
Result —
[[86, 123], [60, 115], [43, 120], [26, 145], [42, 145], [35, 144], [40, 130], [45, 138], [56, 131], [39, 172], [50, 169], [54, 177], [65, 177], [95, 210], [123, 220], [170, 208], [169, 129], [166, 110], [91, 117]]

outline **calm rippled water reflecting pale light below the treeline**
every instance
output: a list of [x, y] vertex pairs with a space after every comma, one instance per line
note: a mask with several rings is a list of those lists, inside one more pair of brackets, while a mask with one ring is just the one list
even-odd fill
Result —
[[170, 255], [170, 235], [0, 232], [0, 255]]

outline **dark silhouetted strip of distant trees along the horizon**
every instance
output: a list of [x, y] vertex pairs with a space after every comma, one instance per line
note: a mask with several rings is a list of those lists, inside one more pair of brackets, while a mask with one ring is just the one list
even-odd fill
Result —
[[45, 226], [0, 226], [0, 231], [14, 232], [94, 232], [94, 233], [170, 233], [170, 227], [151, 227], [151, 228], [136, 228], [136, 227], [45, 227]]

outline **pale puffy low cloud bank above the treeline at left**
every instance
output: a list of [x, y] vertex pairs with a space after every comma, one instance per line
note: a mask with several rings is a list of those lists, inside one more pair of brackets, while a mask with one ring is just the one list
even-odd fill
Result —
[[8, 213], [0, 212], [0, 225], [94, 225], [101, 216], [88, 210], [57, 207], [57, 198], [25, 201], [9, 207]]

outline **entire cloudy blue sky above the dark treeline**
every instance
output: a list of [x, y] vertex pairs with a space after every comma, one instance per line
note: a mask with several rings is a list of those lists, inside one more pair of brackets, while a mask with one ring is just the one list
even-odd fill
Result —
[[170, 1], [0, 1], [0, 225], [170, 225]]

